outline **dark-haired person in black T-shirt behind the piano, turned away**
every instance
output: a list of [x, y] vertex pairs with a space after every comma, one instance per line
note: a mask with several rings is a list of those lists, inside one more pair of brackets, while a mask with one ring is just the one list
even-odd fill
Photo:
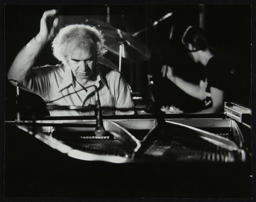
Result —
[[233, 64], [209, 46], [206, 34], [200, 27], [189, 26], [182, 37], [182, 43], [195, 63], [205, 66], [206, 75], [198, 85], [174, 75], [173, 67], [163, 65], [161, 72], [188, 95], [204, 101], [204, 109], [198, 113], [222, 113], [224, 101], [230, 101], [228, 94]]

